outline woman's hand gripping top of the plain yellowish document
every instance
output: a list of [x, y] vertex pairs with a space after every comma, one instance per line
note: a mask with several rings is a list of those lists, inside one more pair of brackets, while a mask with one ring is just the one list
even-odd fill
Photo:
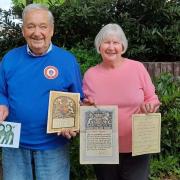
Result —
[[160, 103], [146, 103], [140, 106], [140, 113], [155, 113], [159, 109]]

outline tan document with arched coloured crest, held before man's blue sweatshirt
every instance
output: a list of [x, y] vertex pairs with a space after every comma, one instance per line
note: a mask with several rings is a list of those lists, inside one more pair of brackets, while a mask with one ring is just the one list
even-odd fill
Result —
[[79, 130], [80, 94], [50, 91], [47, 133]]

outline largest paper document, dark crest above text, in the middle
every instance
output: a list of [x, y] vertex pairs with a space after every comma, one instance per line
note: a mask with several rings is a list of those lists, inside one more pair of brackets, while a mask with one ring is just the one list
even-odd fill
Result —
[[118, 164], [117, 106], [80, 107], [80, 164]]

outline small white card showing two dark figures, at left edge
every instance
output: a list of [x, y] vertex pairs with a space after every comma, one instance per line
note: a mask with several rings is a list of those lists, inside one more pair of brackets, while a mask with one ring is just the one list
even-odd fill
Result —
[[21, 124], [3, 121], [0, 123], [0, 147], [18, 148]]

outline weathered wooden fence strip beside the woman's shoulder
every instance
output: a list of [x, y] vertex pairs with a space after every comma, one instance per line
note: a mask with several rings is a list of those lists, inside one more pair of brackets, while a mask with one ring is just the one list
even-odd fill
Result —
[[175, 78], [180, 77], [180, 62], [143, 62], [152, 78], [161, 73], [170, 72]]

